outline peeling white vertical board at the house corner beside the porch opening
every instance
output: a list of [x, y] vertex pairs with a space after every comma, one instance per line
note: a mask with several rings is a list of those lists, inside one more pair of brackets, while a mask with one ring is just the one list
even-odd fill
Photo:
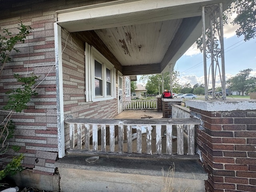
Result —
[[55, 42], [55, 65], [56, 65], [58, 156], [59, 158], [62, 158], [65, 156], [62, 46], [61, 46], [61, 27], [56, 22], [54, 23], [54, 42]]

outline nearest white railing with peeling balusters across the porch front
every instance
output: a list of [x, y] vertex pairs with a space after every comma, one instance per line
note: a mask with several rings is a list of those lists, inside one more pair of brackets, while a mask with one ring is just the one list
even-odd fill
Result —
[[[184, 154], [183, 127], [188, 128], [188, 154], [194, 155], [194, 127], [200, 124], [196, 118], [183, 119], [85, 119], [65, 120], [70, 125], [70, 148], [93, 150], [98, 152], [98, 130], [101, 130], [102, 152], [115, 152], [115, 126], [118, 127], [118, 153], [124, 153], [124, 138], [127, 138], [127, 153], [132, 153], [132, 129], [136, 129], [136, 152], [142, 153], [142, 132], [146, 133], [146, 154], [152, 154], [152, 133], [155, 134], [156, 154], [172, 154], [172, 129], [177, 129], [177, 154]], [[155, 129], [152, 130], [152, 126]], [[166, 152], [162, 152], [162, 126], [166, 126]], [[106, 150], [106, 128], [109, 129], [109, 151]], [[76, 134], [75, 134], [76, 133]], [[124, 134], [126, 133], [126, 134]], [[90, 136], [92, 135], [92, 148]], [[76, 143], [75, 143], [76, 140]], [[84, 146], [82, 146], [84, 142]], [[135, 142], [135, 141], [134, 141]]]

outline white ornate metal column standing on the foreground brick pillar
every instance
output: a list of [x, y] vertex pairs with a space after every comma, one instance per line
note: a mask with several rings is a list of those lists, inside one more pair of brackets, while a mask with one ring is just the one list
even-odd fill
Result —
[[[206, 18], [209, 18], [209, 20]], [[222, 4], [203, 6], [202, 21], [205, 99], [226, 99]], [[208, 28], [206, 28], [207, 24]], [[209, 59], [210, 64], [208, 64]], [[207, 70], [209, 70], [209, 73], [207, 73]], [[212, 94], [209, 97], [208, 88], [210, 82], [210, 72], [212, 77]], [[222, 96], [215, 93], [216, 77], [218, 74], [222, 87]]]

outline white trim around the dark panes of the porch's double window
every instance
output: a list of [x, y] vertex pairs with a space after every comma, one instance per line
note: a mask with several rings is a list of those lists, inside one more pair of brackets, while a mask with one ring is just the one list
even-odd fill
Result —
[[[94, 60], [97, 60], [102, 64], [102, 94], [103, 96], [95, 96], [95, 68], [94, 68]], [[86, 50], [85, 50], [85, 63], [86, 63], [86, 101], [104, 101], [104, 100], [111, 100], [116, 98], [116, 69], [114, 65], [108, 61], [96, 48], [90, 46], [86, 43]], [[107, 96], [106, 90], [106, 68], [110, 70], [111, 74], [111, 95]]]

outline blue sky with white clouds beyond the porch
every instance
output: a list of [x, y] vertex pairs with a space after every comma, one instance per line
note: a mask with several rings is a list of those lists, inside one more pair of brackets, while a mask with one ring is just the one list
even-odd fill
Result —
[[[241, 70], [252, 69], [250, 76], [256, 77], [256, 38], [244, 41], [243, 36], [236, 36], [238, 26], [224, 25], [224, 58], [226, 80], [238, 74]], [[204, 84], [203, 54], [196, 48], [194, 43], [188, 51], [176, 62], [174, 70], [180, 73], [181, 85], [190, 83]], [[209, 63], [209, 61], [208, 61]], [[209, 71], [209, 64], [208, 70]], [[137, 77], [138, 80], [140, 76]], [[138, 81], [138, 83], [140, 83]], [[216, 78], [216, 87], [220, 86], [219, 78]], [[209, 86], [211, 87], [211, 86]]]

